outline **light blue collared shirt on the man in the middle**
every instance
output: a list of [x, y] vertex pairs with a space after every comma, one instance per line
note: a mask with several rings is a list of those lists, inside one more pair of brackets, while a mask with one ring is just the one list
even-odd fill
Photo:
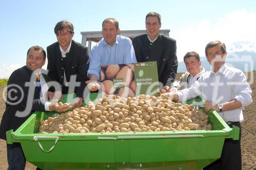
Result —
[[117, 35], [113, 46], [102, 38], [90, 53], [90, 65], [87, 74], [98, 76], [101, 65], [136, 63], [136, 56], [132, 40], [128, 37]]

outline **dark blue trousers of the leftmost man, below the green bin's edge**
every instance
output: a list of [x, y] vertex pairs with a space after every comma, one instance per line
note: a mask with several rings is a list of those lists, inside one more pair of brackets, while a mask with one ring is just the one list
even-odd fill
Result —
[[[7, 170], [24, 170], [26, 166], [26, 158], [20, 143], [7, 144]], [[39, 167], [36, 170], [40, 170]]]

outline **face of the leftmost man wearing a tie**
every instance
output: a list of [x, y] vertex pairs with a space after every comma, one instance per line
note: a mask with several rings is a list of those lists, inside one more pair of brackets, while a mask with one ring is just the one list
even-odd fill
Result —
[[31, 48], [27, 56], [27, 67], [30, 70], [35, 71], [36, 69], [40, 69], [43, 65], [45, 65], [45, 63], [46, 60], [44, 59], [44, 54], [42, 53], [42, 51], [36, 51], [33, 48]]

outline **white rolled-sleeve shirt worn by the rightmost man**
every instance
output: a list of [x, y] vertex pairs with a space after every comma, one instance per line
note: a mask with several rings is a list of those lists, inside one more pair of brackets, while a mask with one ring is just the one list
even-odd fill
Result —
[[204, 101], [216, 104], [236, 99], [242, 107], [219, 112], [225, 122], [243, 122], [242, 108], [252, 103], [251, 88], [243, 71], [223, 65], [219, 71], [207, 71], [190, 88], [177, 92], [180, 102], [202, 95]]

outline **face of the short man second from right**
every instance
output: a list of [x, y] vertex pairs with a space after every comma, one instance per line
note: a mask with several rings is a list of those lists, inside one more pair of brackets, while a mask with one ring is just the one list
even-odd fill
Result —
[[187, 71], [191, 75], [196, 76], [199, 72], [201, 72], [201, 69], [200, 69], [201, 61], [198, 61], [195, 56], [185, 58], [184, 62], [185, 62]]

